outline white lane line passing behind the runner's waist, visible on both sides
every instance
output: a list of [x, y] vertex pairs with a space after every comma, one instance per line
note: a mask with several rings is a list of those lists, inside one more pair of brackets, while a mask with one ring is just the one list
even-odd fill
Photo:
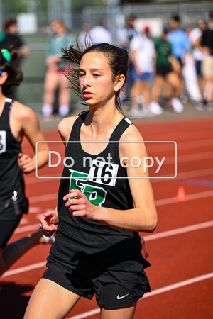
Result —
[[[183, 233], [191, 232], [194, 230], [200, 230], [200, 229], [204, 229], [204, 228], [208, 228], [208, 227], [212, 227], [212, 226], [213, 226], [213, 220], [210, 220], [210, 221], [205, 222], [205, 223], [200, 223], [200, 224], [196, 224], [196, 225], [191, 225], [191, 226], [186, 226], [186, 227], [177, 228], [177, 229], [173, 229], [173, 230], [168, 230], [168, 231], [153, 234], [153, 235], [146, 235], [146, 236], [144, 236], [144, 239], [146, 240], [146, 242], [148, 242], [148, 240], [157, 240], [157, 239], [160, 239], [163, 237], [180, 235]], [[9, 270], [9, 271], [4, 273], [4, 276], [11, 276], [12, 274], [20, 274], [21, 272], [27, 272], [29, 270], [44, 267], [44, 266], [45, 266], [45, 262], [39, 262], [38, 264], [31, 264], [31, 265], [26, 266], [26, 267], [21, 267], [21, 268]]]

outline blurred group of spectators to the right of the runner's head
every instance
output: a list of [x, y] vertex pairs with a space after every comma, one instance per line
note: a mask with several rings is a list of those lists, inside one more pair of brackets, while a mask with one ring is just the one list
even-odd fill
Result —
[[123, 99], [131, 116], [163, 113], [164, 106], [181, 113], [186, 100], [199, 111], [213, 110], [213, 11], [193, 29], [180, 28], [180, 16], [170, 18], [160, 38], [151, 37], [151, 24], [138, 31], [134, 17], [119, 32], [119, 43], [129, 51], [129, 83]]

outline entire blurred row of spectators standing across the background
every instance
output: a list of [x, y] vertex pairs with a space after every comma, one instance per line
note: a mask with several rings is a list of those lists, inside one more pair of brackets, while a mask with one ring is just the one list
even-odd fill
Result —
[[[184, 110], [186, 100], [199, 111], [213, 109], [213, 11], [209, 21], [200, 19], [195, 28], [180, 28], [180, 16], [170, 18], [158, 38], [152, 37], [152, 25], [136, 29], [136, 18], [129, 16], [126, 26], [117, 30], [116, 37], [99, 21], [97, 26], [85, 22], [78, 34], [82, 46], [92, 43], [111, 43], [129, 52], [129, 75], [121, 100], [127, 102], [129, 116], [143, 118], [158, 116], [169, 106], [176, 113]], [[42, 116], [53, 118], [55, 91], [58, 90], [58, 113], [70, 113], [70, 92], [63, 72], [61, 48], [76, 45], [76, 36], [65, 23], [55, 20], [46, 52], [46, 74]], [[17, 33], [15, 20], [6, 21], [0, 35], [0, 48], [14, 45], [20, 52], [20, 62], [29, 54], [28, 47]], [[114, 38], [116, 38], [116, 43]]]

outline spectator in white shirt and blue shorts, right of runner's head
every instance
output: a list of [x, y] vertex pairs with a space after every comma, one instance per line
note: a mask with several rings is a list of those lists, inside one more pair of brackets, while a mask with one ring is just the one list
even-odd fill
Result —
[[[148, 104], [153, 79], [155, 45], [150, 38], [149, 26], [145, 26], [141, 34], [133, 37], [130, 49], [133, 62], [130, 116], [137, 118], [151, 116]], [[142, 99], [142, 108], [140, 108], [140, 98]]]

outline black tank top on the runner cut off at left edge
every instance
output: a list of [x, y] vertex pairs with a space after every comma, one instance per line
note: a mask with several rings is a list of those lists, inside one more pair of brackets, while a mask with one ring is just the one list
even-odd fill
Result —
[[[23, 173], [17, 162], [18, 153], [21, 152], [21, 142], [13, 136], [10, 127], [13, 103], [12, 99], [6, 98], [0, 116], [0, 220], [16, 220], [22, 213], [28, 212]], [[13, 198], [14, 192], [17, 200]]]

